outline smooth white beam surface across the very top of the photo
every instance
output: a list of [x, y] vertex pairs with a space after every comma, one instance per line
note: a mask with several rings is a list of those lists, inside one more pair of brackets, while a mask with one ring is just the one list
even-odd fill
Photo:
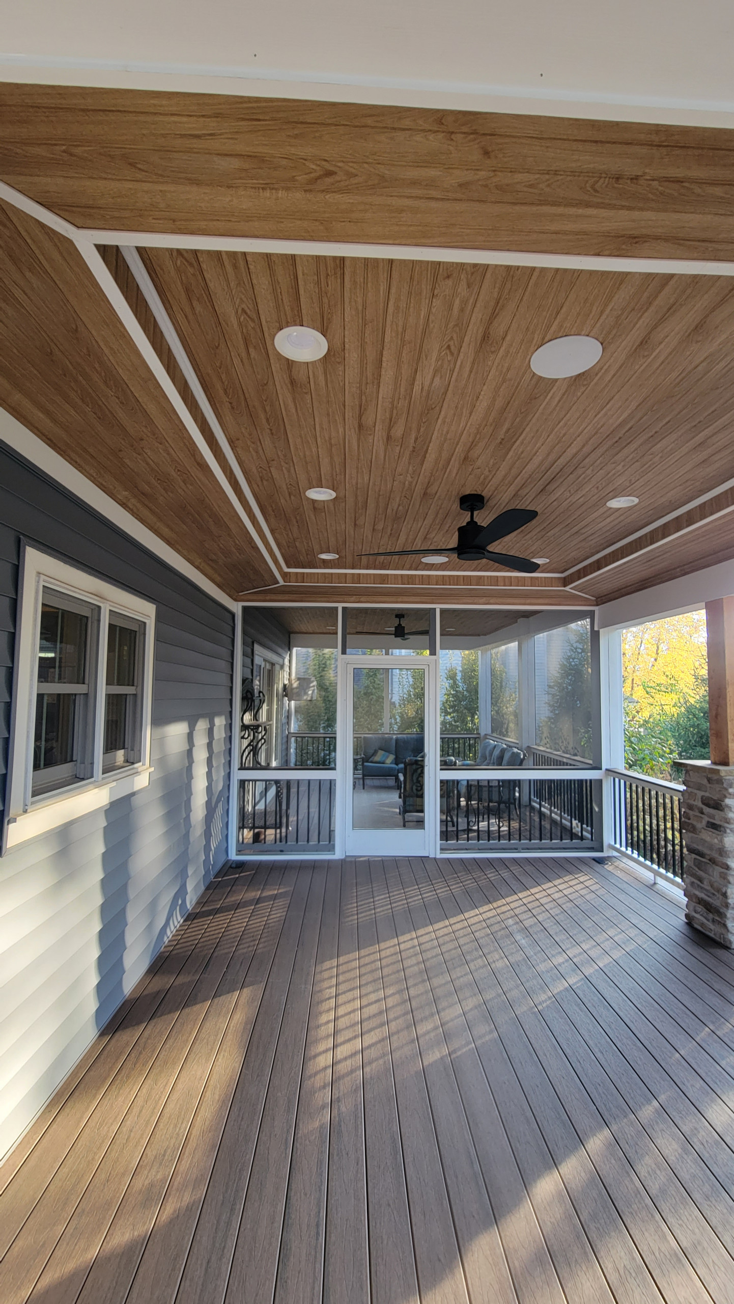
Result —
[[729, 0], [56, 0], [3, 17], [0, 78], [734, 124]]

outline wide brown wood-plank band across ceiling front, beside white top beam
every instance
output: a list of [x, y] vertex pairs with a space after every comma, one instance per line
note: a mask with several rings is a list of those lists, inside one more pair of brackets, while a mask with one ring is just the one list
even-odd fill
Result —
[[0, 177], [76, 226], [734, 258], [712, 128], [0, 85]]

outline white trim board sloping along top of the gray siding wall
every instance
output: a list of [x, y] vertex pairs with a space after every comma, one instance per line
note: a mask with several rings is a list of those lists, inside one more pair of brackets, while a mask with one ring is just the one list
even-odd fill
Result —
[[192, 566], [192, 563], [175, 552], [173, 548], [163, 542], [158, 535], [154, 535], [147, 526], [143, 526], [139, 520], [137, 520], [136, 516], [125, 510], [125, 507], [121, 507], [113, 498], [110, 498], [102, 489], [98, 489], [98, 486], [93, 484], [91, 480], [87, 480], [81, 471], [77, 471], [69, 462], [65, 462], [64, 458], [55, 452], [53, 449], [50, 449], [43, 439], [39, 439], [38, 436], [27, 430], [25, 425], [21, 425], [21, 422], [17, 421], [14, 416], [10, 416], [10, 413], [4, 408], [0, 408], [0, 439], [3, 443], [7, 443], [8, 447], [20, 452], [21, 456], [23, 456], [34, 467], [38, 467], [39, 471], [43, 471], [47, 476], [51, 476], [52, 480], [56, 480], [56, 482], [64, 489], [68, 489], [69, 493], [81, 498], [81, 501], [85, 502], [87, 507], [91, 507], [93, 511], [104, 516], [104, 519], [112, 526], [123, 529], [136, 541], [136, 544], [146, 548], [149, 553], [153, 553], [162, 562], [166, 562], [166, 565], [171, 566], [172, 570], [179, 571], [180, 575], [184, 575], [186, 579], [192, 580], [193, 584], [197, 584], [198, 588], [201, 588], [210, 597], [214, 597], [222, 604], [222, 606], [226, 606], [227, 610], [235, 612], [237, 609], [237, 604], [228, 596], [228, 593], [226, 593], [222, 588], [218, 588], [216, 584], [213, 584], [206, 575], [202, 575], [202, 572], [196, 569], [196, 566]]

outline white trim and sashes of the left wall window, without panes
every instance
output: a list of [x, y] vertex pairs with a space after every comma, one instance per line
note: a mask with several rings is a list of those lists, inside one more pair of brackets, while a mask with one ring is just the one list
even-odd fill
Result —
[[[5, 802], [3, 852], [38, 833], [59, 828], [80, 815], [107, 806], [150, 782], [150, 719], [153, 705], [153, 653], [155, 605], [116, 588], [106, 580], [37, 552], [23, 550], [16, 623], [14, 691], [9, 739], [9, 772]], [[56, 793], [31, 795], [33, 738], [40, 605], [43, 588], [55, 588], [70, 597], [94, 602], [102, 609], [99, 656], [96, 659], [94, 775]], [[145, 656], [141, 694], [141, 759], [112, 773], [103, 773], [104, 673], [107, 665], [107, 623], [119, 612], [145, 626]]]

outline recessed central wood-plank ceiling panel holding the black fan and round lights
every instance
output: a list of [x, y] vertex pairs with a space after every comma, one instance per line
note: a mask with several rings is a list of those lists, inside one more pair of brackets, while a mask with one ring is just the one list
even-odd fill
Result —
[[[482, 519], [536, 507], [506, 546], [563, 572], [731, 475], [729, 278], [169, 249], [143, 262], [291, 569], [327, 570], [318, 553], [334, 552], [334, 569], [425, 574], [420, 557], [360, 554], [451, 546], [458, 497], [477, 489]], [[323, 331], [326, 356], [282, 357], [289, 322]], [[598, 336], [601, 361], [535, 376], [533, 349], [572, 333]], [[314, 485], [336, 498], [308, 499]], [[608, 509], [618, 494], [640, 502]]]

